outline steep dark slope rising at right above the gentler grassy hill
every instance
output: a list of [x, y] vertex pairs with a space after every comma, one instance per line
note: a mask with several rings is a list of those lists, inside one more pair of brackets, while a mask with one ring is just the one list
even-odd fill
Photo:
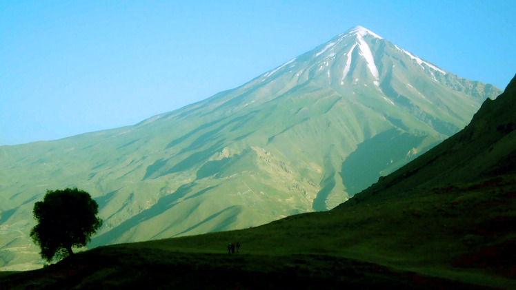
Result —
[[374, 203], [401, 196], [426, 193], [448, 183], [473, 183], [516, 169], [516, 79], [495, 101], [487, 99], [473, 120], [393, 174], [343, 203]]

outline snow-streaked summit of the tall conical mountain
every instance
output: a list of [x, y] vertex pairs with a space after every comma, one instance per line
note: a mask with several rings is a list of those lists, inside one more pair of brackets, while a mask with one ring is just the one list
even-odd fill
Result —
[[[393, 55], [397, 55], [397, 58], [391, 59]], [[390, 65], [386, 66], [386, 63]], [[436, 65], [399, 48], [374, 32], [355, 26], [314, 50], [262, 74], [260, 81], [273, 81], [282, 74], [293, 74], [298, 84], [307, 79], [314, 81], [317, 78], [313, 76], [317, 76], [328, 85], [348, 83], [366, 87], [369, 85], [381, 90], [380, 83], [386, 77], [390, 79], [393, 73], [400, 76], [402, 68], [405, 68], [403, 74], [410, 75], [410, 79], [416, 71], [430, 76], [434, 82], [444, 81], [442, 78], [447, 74]]]

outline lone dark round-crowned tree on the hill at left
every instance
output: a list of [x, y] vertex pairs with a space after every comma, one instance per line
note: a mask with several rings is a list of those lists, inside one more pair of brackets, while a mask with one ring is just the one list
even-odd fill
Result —
[[102, 225], [99, 205], [88, 192], [74, 188], [47, 190], [43, 201], [34, 205], [38, 224], [30, 237], [41, 248], [41, 258], [73, 256], [72, 247], [84, 247]]

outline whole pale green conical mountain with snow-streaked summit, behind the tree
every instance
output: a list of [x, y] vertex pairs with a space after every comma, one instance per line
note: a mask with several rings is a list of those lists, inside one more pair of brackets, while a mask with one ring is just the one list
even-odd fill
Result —
[[461, 130], [501, 90], [356, 27], [232, 90], [137, 125], [0, 147], [0, 267], [28, 269], [32, 207], [79, 187], [90, 246], [330, 209]]

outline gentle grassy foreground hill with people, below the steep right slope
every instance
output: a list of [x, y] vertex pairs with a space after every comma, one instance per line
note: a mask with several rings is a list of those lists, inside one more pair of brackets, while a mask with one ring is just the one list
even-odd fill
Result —
[[[7, 289], [515, 289], [515, 176], [239, 231], [99, 247]], [[514, 214], [513, 214], [514, 216]], [[228, 256], [228, 242], [241, 242]], [[2, 274], [0, 272], [0, 274]]]

